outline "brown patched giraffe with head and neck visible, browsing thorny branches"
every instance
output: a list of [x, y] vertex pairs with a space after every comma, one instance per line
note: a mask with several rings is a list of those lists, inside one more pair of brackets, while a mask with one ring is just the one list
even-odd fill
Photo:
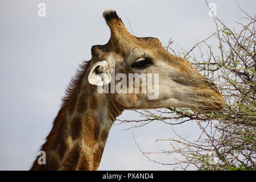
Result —
[[[46, 164], [35, 160], [31, 170], [97, 170], [109, 131], [125, 109], [188, 107], [199, 113], [220, 111], [224, 100], [216, 85], [181, 57], [171, 55], [156, 38], [131, 35], [114, 10], [103, 16], [110, 28], [105, 45], [91, 49], [72, 78], [42, 151]], [[158, 73], [159, 96], [148, 93], [99, 93], [114, 73]], [[115, 81], [115, 80], [114, 80]]]

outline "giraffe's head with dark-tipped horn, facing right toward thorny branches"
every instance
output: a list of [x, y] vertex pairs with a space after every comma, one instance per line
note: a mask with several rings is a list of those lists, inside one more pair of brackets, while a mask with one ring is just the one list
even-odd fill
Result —
[[[171, 55], [156, 38], [131, 35], [115, 11], [106, 10], [103, 16], [111, 36], [104, 46], [92, 47], [89, 84], [105, 85], [105, 90], [108, 88], [106, 96], [125, 109], [174, 106], [188, 107], [199, 113], [222, 109], [221, 93], [188, 60]], [[137, 85], [136, 76], [139, 78]], [[122, 91], [118, 92], [116, 89], [121, 80], [124, 84], [119, 84]], [[146, 81], [146, 92], [142, 90], [143, 81]], [[150, 86], [148, 81], [152, 81]], [[115, 84], [114, 92], [111, 92], [111, 82]], [[136, 87], [139, 87], [139, 92], [135, 92]], [[150, 95], [156, 97], [150, 98]]]

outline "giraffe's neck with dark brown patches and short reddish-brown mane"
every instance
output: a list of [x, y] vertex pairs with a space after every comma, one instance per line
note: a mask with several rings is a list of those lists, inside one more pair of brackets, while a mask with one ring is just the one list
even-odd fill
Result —
[[64, 112], [57, 115], [59, 125], [53, 126], [54, 134], [49, 134], [52, 136], [42, 147], [46, 164], [39, 165], [36, 160], [31, 169], [98, 169], [110, 128], [123, 108], [94, 86], [81, 88], [86, 89], [78, 90]]

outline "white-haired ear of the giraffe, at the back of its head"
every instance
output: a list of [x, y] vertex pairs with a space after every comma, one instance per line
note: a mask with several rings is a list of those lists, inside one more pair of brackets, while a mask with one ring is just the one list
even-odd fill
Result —
[[109, 70], [109, 64], [107, 61], [104, 60], [97, 62], [90, 70], [88, 76], [89, 83], [97, 86], [109, 84], [111, 81], [111, 75]]

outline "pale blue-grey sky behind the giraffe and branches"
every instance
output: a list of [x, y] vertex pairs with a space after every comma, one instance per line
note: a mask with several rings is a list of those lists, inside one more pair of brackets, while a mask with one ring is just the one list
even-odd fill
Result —
[[[46, 17], [38, 17], [38, 4], [46, 3]], [[242, 16], [235, 1], [216, 3], [217, 16], [230, 27]], [[255, 14], [256, 1], [237, 1]], [[90, 48], [105, 44], [110, 31], [102, 18], [105, 9], [117, 10], [135, 36], [159, 38], [164, 46], [172, 37], [174, 49], [191, 49], [214, 31], [205, 1], [0, 1], [0, 170], [27, 170], [44, 142], [55, 118], [60, 98], [82, 60], [90, 60]], [[213, 42], [214, 44], [214, 42]], [[214, 46], [214, 45], [213, 45]], [[122, 119], [138, 118], [125, 111]], [[158, 138], [171, 138], [170, 126], [153, 122], [122, 131], [131, 125], [114, 126], [109, 134], [101, 170], [169, 170], [149, 162], [142, 150], [168, 150]], [[196, 138], [195, 123], [173, 126], [180, 135]], [[171, 163], [175, 156], [154, 156]]]

